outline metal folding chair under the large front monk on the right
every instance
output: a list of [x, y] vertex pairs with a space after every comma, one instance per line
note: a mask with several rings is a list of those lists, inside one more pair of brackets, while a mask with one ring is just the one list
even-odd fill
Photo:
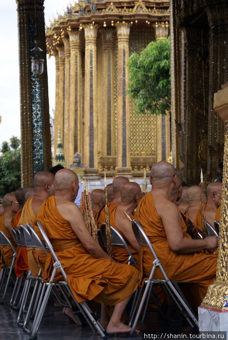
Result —
[[[162, 288], [164, 288], [165, 292], [167, 293], [168, 297], [170, 298], [171, 301], [173, 301], [177, 307], [177, 310], [179, 310], [179, 312], [181, 312], [181, 314], [184, 315], [184, 317], [186, 318], [186, 320], [189, 322], [189, 324], [193, 327], [194, 325], [196, 325], [198, 327], [198, 321], [195, 317], [195, 315], [193, 314], [193, 311], [191, 310], [190, 306], [188, 305], [186, 299], [184, 298], [183, 294], [181, 293], [181, 290], [178, 287], [178, 283], [182, 283], [182, 282], [174, 282], [174, 281], [170, 281], [169, 277], [167, 276], [165, 270], [163, 269], [158, 256], [156, 255], [154, 248], [149, 240], [149, 238], [147, 237], [147, 235], [145, 234], [144, 230], [142, 229], [142, 227], [140, 226], [139, 222], [137, 222], [136, 220], [132, 221], [132, 228], [133, 228], [133, 232], [135, 234], [135, 237], [137, 239], [137, 241], [139, 242], [140, 245], [142, 246], [146, 246], [149, 247], [149, 249], [151, 250], [152, 255], [154, 256], [154, 261], [153, 261], [153, 267], [150, 273], [150, 276], [148, 279], [146, 279], [144, 281], [144, 292], [142, 294], [141, 297], [141, 301], [140, 301], [140, 305], [137, 311], [137, 314], [134, 318], [134, 314], [132, 315], [132, 319], [134, 319], [134, 322], [132, 324], [132, 329], [131, 332], [129, 333], [129, 335], [132, 335], [134, 333], [134, 330], [136, 328], [136, 324], [139, 320], [140, 317], [140, 313], [142, 310], [142, 307], [144, 305], [144, 302], [146, 300], [146, 298], [148, 298], [150, 296], [151, 293], [151, 289], [153, 288], [153, 285], [155, 283], [158, 283], [161, 285]], [[156, 269], [159, 268], [164, 279], [162, 280], [158, 280], [154, 278], [154, 273], [156, 271]], [[148, 302], [148, 299], [147, 299]], [[147, 306], [146, 306], [147, 307]], [[144, 309], [144, 314], [146, 312], [146, 308]]]

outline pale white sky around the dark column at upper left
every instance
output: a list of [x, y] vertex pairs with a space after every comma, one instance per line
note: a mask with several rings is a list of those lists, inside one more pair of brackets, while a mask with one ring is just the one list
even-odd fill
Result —
[[[74, 0], [44, 0], [45, 24], [63, 14]], [[20, 138], [20, 99], [18, 62], [18, 13], [16, 0], [0, 1], [0, 146], [11, 136]], [[55, 97], [54, 57], [47, 56], [49, 107], [52, 115]]]

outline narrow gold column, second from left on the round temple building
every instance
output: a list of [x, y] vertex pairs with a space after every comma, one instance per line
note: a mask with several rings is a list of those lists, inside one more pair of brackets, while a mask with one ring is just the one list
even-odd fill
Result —
[[[64, 126], [64, 70], [65, 70], [65, 55], [64, 55], [64, 47], [63, 46], [57, 46], [56, 47], [57, 51], [58, 51], [58, 57], [59, 57], [59, 92], [58, 92], [58, 122], [55, 122], [55, 126], [57, 125], [57, 130], [58, 131], [58, 127], [60, 127], [60, 134], [61, 134], [61, 139], [63, 139], [64, 137], [64, 130], [63, 130], [63, 126]], [[54, 136], [54, 142], [57, 145], [57, 138], [58, 138], [58, 134], [55, 133]], [[64, 147], [64, 145], [63, 145]], [[54, 151], [54, 154], [56, 153], [56, 149]]]

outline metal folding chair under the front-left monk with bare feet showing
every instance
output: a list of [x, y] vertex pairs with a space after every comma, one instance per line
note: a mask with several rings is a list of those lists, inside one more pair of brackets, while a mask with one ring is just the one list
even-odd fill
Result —
[[[85, 318], [85, 320], [87, 321], [88, 325], [90, 326], [90, 328], [93, 331], [97, 331], [100, 333], [100, 335], [102, 336], [103, 339], [106, 340], [106, 333], [105, 333], [105, 329], [103, 328], [103, 326], [99, 323], [98, 320], [95, 320], [94, 315], [92, 313], [92, 311], [90, 310], [90, 308], [88, 307], [86, 302], [82, 302], [82, 303], [78, 303], [71, 290], [70, 287], [68, 285], [67, 282], [67, 275], [66, 272], [64, 271], [61, 262], [59, 261], [59, 259], [57, 258], [57, 256], [55, 255], [54, 251], [53, 251], [53, 247], [51, 242], [49, 241], [47, 235], [44, 232], [44, 229], [41, 225], [40, 222], [37, 222], [37, 226], [39, 228], [39, 231], [46, 243], [46, 248], [51, 252], [52, 256], [53, 256], [53, 260], [54, 260], [54, 264], [53, 264], [53, 272], [51, 275], [51, 278], [49, 280], [49, 282], [46, 284], [47, 289], [46, 292], [44, 294], [44, 297], [41, 296], [40, 300], [39, 300], [39, 304], [37, 306], [37, 312], [35, 313], [35, 318], [34, 318], [34, 323], [32, 326], [32, 332], [31, 332], [31, 336], [30, 339], [33, 340], [36, 337], [36, 333], [38, 331], [38, 327], [41, 323], [45, 308], [47, 306], [50, 294], [53, 290], [54, 286], [57, 286], [59, 289], [61, 289], [61, 294], [64, 295], [64, 299], [67, 301], [67, 306], [71, 306], [70, 303], [70, 299], [72, 299], [74, 301], [74, 303], [76, 304], [76, 306], [78, 307], [78, 312], [76, 313], [81, 313], [83, 315], [83, 317]], [[61, 274], [64, 277], [64, 281], [62, 282], [57, 282], [54, 283], [54, 277], [55, 277], [55, 273], [57, 271], [57, 269], [59, 269], [61, 271]], [[70, 299], [69, 299], [70, 296]]]

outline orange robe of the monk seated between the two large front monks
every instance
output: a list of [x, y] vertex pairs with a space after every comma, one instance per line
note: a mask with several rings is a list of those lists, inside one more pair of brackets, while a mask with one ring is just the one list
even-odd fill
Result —
[[[138, 252], [130, 245], [130, 243], [127, 241], [127, 239], [123, 236], [123, 233], [116, 226], [116, 221], [115, 221], [116, 220], [115, 219], [116, 208], [117, 208], [117, 205], [115, 206], [115, 208], [109, 214], [110, 225], [112, 225], [122, 235], [122, 237], [126, 241], [126, 244], [128, 245], [128, 248], [129, 248], [131, 254], [135, 257], [136, 262], [137, 262], [137, 260], [138, 260]], [[121, 262], [121, 263], [126, 263], [127, 264], [127, 260], [128, 260], [129, 255], [128, 255], [128, 252], [127, 252], [127, 250], [125, 249], [124, 246], [112, 245], [112, 257], [117, 262]]]

